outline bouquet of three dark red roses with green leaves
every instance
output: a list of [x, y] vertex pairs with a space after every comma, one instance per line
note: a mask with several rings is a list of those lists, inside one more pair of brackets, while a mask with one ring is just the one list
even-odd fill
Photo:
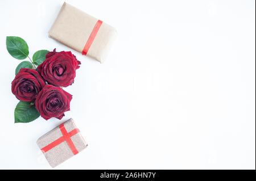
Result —
[[14, 111], [15, 123], [28, 123], [40, 115], [46, 120], [61, 119], [70, 110], [72, 99], [63, 87], [72, 85], [81, 62], [71, 52], [56, 49], [39, 50], [31, 60], [26, 41], [16, 36], [6, 37], [6, 48], [14, 58], [30, 60], [17, 66], [11, 82], [11, 91], [20, 100]]

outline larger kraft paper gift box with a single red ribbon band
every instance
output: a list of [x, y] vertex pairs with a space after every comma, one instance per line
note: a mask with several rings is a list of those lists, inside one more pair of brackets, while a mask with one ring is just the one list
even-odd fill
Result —
[[101, 63], [117, 36], [112, 26], [65, 2], [48, 33], [49, 37]]

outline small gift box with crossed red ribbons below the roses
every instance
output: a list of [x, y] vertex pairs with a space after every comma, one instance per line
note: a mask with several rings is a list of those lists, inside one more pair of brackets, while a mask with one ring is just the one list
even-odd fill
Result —
[[73, 119], [44, 134], [36, 143], [52, 167], [66, 161], [87, 146]]

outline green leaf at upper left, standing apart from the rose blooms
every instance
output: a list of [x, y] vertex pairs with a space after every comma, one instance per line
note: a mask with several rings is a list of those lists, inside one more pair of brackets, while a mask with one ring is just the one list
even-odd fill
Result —
[[7, 36], [6, 48], [11, 56], [19, 60], [23, 60], [28, 56], [27, 43], [18, 36]]

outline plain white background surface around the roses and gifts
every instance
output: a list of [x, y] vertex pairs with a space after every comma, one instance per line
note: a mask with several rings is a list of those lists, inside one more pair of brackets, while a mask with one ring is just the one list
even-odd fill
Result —
[[70, 50], [47, 33], [63, 2], [0, 1], [0, 169], [51, 169], [36, 140], [70, 117], [89, 145], [56, 169], [255, 169], [255, 1], [67, 1], [118, 39], [104, 64], [72, 50], [62, 120], [14, 124], [6, 36]]

